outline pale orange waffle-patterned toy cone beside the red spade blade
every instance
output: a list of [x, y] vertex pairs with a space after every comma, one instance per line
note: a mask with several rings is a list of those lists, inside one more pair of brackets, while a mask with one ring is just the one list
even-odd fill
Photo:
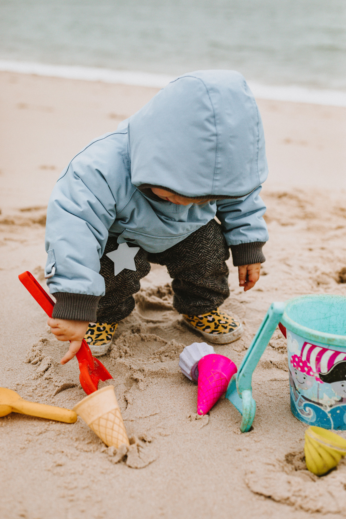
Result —
[[114, 386], [94, 391], [74, 406], [73, 410], [108, 445], [118, 448], [122, 443], [130, 445]]

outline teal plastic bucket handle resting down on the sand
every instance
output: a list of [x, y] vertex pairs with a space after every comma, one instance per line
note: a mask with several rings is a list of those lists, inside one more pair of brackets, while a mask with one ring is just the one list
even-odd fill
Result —
[[252, 374], [262, 353], [284, 313], [284, 303], [272, 303], [248, 348], [238, 373], [233, 375], [226, 391], [226, 398], [242, 415], [241, 432], [248, 431], [255, 417], [256, 402], [252, 397]]

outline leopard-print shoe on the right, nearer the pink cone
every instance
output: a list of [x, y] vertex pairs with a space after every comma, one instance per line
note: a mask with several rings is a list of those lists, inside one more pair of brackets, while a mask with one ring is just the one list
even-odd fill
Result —
[[240, 322], [218, 308], [200, 316], [183, 315], [190, 328], [197, 330], [211, 343], [227, 344], [239, 339], [244, 329]]

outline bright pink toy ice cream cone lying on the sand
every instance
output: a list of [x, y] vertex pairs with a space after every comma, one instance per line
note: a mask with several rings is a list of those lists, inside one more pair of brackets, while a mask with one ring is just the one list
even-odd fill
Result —
[[205, 415], [226, 392], [237, 366], [228, 357], [212, 353], [198, 363], [197, 413]]

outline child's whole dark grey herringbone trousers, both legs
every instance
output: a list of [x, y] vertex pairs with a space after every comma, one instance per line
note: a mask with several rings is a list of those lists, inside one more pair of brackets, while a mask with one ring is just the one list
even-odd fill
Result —
[[179, 313], [199, 315], [215, 310], [229, 296], [225, 263], [229, 249], [215, 220], [163, 252], [148, 253], [140, 248], [134, 258], [136, 270], [124, 269], [114, 276], [114, 263], [106, 254], [117, 248], [117, 238], [109, 237], [101, 258], [106, 293], [99, 301], [98, 322], [119, 322], [130, 315], [135, 305], [133, 294], [140, 290], [140, 279], [149, 273], [150, 263], [167, 266], [173, 278], [173, 306]]

